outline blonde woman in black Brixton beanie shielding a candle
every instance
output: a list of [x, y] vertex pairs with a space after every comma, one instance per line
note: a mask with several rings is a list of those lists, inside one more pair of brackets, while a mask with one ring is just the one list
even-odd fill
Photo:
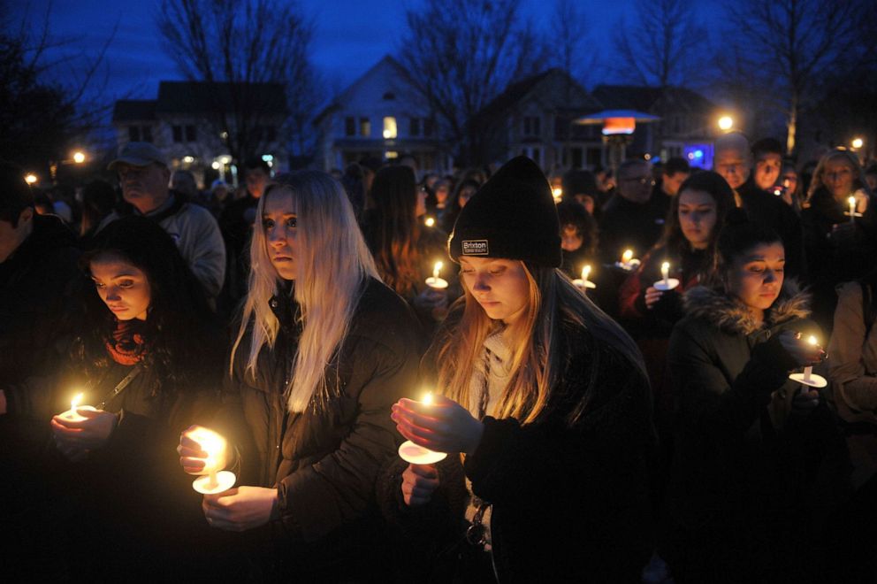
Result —
[[[538, 166], [500, 168], [449, 251], [465, 294], [428, 359], [440, 395], [393, 406], [400, 434], [449, 456], [400, 461], [380, 485], [402, 541], [426, 558], [407, 567], [423, 577], [436, 562], [439, 581], [443, 562], [492, 579], [491, 561], [500, 580], [638, 581], [652, 549], [648, 383], [629, 337], [556, 269], [557, 212]], [[472, 565], [455, 566], [458, 554]]]

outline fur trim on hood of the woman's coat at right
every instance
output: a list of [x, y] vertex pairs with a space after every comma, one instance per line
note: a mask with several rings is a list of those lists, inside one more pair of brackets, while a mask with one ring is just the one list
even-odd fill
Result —
[[[810, 300], [810, 293], [803, 291], [797, 281], [784, 281], [780, 296], [766, 311], [766, 326], [774, 327], [791, 319], [806, 319], [810, 316]], [[720, 289], [705, 286], [691, 288], [685, 293], [685, 313], [705, 319], [728, 333], [748, 335], [760, 328], [743, 303]]]

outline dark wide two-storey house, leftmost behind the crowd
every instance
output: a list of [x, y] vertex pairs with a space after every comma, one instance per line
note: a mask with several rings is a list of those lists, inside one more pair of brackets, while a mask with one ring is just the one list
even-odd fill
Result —
[[220, 177], [237, 182], [239, 161], [225, 139], [239, 128], [251, 150], [275, 169], [286, 169], [285, 122], [286, 92], [278, 83], [161, 81], [156, 99], [118, 100], [112, 115], [118, 148], [152, 142], [172, 170], [191, 171], [202, 187]]

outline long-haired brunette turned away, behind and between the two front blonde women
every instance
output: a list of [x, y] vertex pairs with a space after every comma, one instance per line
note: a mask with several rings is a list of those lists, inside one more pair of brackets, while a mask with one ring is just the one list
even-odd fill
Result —
[[[417, 187], [414, 171], [408, 166], [385, 166], [377, 171], [371, 198], [375, 207], [363, 234], [375, 257], [377, 273], [431, 330], [445, 317], [448, 294], [447, 290], [430, 288], [425, 281], [436, 262], [445, 257], [447, 236], [439, 227], [423, 225], [426, 195]], [[442, 275], [454, 280], [450, 270]]]

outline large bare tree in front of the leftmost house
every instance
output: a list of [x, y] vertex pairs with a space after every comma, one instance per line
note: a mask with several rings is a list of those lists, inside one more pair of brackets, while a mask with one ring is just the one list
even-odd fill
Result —
[[242, 162], [271, 142], [263, 128], [278, 115], [279, 96], [266, 95], [278, 90], [272, 84], [286, 88], [283, 126], [294, 134], [293, 150], [307, 148], [316, 105], [309, 59], [314, 26], [295, 4], [162, 0], [156, 23], [187, 79], [213, 84], [205, 109], [233, 158]]

